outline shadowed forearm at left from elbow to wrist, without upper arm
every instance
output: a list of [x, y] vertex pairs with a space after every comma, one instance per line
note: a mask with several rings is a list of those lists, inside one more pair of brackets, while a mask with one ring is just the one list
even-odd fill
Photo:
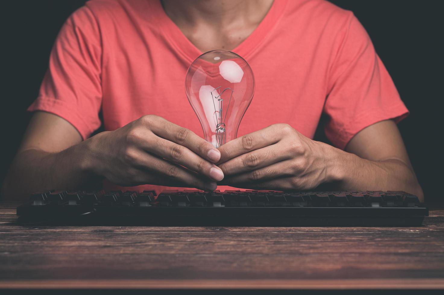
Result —
[[17, 199], [48, 189], [82, 188], [96, 180], [88, 168], [88, 141], [57, 153], [40, 149], [19, 152], [2, 186], [5, 199]]

